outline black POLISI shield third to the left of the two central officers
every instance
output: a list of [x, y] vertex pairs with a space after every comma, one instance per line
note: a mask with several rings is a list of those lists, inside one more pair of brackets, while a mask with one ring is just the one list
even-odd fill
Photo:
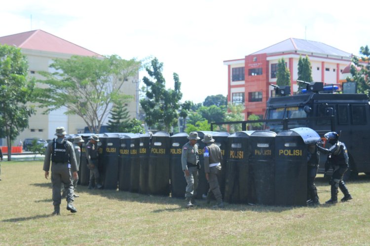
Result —
[[139, 159], [140, 159], [140, 174], [139, 174], [139, 193], [148, 194], [148, 173], [149, 173], [149, 155], [150, 155], [150, 139], [149, 133], [140, 135]]

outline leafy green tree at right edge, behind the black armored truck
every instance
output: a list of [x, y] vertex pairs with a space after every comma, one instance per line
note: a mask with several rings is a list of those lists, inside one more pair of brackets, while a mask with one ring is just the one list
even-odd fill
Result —
[[[360, 47], [361, 57], [353, 56], [351, 65], [352, 78], [347, 81], [357, 82], [357, 92], [369, 94], [370, 92], [370, 50], [368, 45]], [[360, 70], [357, 70], [360, 68]]]

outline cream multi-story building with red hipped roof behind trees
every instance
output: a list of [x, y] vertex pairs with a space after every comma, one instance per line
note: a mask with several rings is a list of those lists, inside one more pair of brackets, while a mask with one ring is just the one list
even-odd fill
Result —
[[[0, 37], [0, 44], [21, 48], [22, 53], [28, 59], [29, 76], [34, 76], [37, 79], [41, 79], [38, 71], [52, 71], [49, 66], [56, 58], [69, 59], [73, 55], [102, 57], [100, 54], [42, 30], [3, 36]], [[127, 105], [131, 118], [135, 118], [137, 114], [138, 79], [139, 73], [130, 77], [122, 88], [126, 95], [134, 97], [134, 100]], [[46, 115], [42, 114], [44, 110], [44, 108], [37, 108], [36, 115], [30, 117], [29, 128], [20, 133], [15, 143], [33, 137], [45, 140], [52, 139], [55, 137], [55, 129], [58, 126], [64, 126], [68, 134], [81, 133], [86, 127], [81, 117], [64, 114], [66, 108], [52, 111]]]

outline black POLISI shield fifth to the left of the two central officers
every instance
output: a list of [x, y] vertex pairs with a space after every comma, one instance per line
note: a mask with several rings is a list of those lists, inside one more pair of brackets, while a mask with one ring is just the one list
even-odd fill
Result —
[[135, 134], [120, 135], [118, 189], [129, 191], [131, 183], [131, 136]]

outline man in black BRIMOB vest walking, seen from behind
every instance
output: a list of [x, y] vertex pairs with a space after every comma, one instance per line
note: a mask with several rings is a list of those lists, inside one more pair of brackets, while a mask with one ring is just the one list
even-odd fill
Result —
[[58, 138], [54, 139], [47, 145], [43, 170], [45, 171], [45, 178], [47, 179], [49, 176], [51, 160], [51, 182], [53, 185], [54, 205], [53, 214], [60, 215], [60, 190], [62, 182], [67, 190], [67, 210], [77, 212], [77, 209], [73, 205], [74, 196], [71, 171], [73, 172], [73, 178], [77, 179], [78, 168], [73, 145], [64, 138], [66, 135], [64, 127], [57, 127], [55, 135]]

